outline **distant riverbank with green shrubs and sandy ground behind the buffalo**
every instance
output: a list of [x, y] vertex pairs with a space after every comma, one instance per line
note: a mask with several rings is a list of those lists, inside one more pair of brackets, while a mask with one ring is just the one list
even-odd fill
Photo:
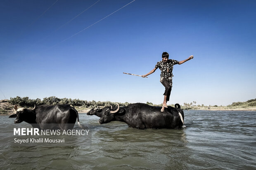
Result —
[[[57, 98], [55, 96], [51, 96], [48, 98], [43, 98], [43, 100], [37, 99], [29, 99], [28, 97], [21, 98], [17, 96], [16, 98], [10, 98], [9, 103], [11, 105], [19, 105], [21, 107], [33, 107], [34, 105], [56, 105], [56, 104], [69, 104], [74, 106], [78, 112], [83, 111], [85, 109], [91, 109], [95, 107], [106, 107], [109, 106], [111, 103], [114, 105], [114, 102], [106, 101], [96, 102], [95, 100], [87, 101], [87, 100], [79, 100], [79, 99], [71, 99], [71, 98]], [[130, 103], [125, 102], [117, 102], [120, 106], [128, 106]], [[182, 109], [243, 109], [243, 108], [252, 108], [256, 107], [256, 98], [248, 100], [246, 102], [233, 102], [231, 105], [228, 106], [205, 106], [205, 105], [196, 105], [197, 102], [193, 101], [190, 103], [184, 103], [181, 105]], [[154, 105], [152, 102], [147, 102], [148, 105], [152, 106], [161, 106], [161, 105]], [[174, 107], [174, 105], [169, 105]], [[0, 112], [4, 112], [4, 110], [0, 110]]]

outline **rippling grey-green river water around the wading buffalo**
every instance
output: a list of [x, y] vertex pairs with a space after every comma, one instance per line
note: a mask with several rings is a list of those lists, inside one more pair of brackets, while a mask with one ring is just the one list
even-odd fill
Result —
[[[139, 130], [119, 121], [99, 125], [97, 116], [81, 113], [90, 135], [25, 145], [14, 143], [14, 128], [31, 125], [0, 116], [0, 169], [256, 169], [256, 112], [184, 115], [185, 128]], [[81, 128], [76, 123], [74, 129]]]

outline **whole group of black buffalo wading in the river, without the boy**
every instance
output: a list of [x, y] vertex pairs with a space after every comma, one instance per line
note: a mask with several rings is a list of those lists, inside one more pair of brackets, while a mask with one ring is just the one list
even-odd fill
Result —
[[[78, 112], [70, 105], [39, 105], [33, 109], [19, 108], [15, 114], [9, 117], [16, 117], [14, 123], [25, 121], [33, 128], [68, 130], [74, 127], [76, 120], [79, 123]], [[150, 106], [144, 103], [134, 103], [126, 107], [110, 105], [103, 108], [91, 109], [87, 115], [100, 117], [98, 123], [109, 123], [111, 121], [122, 121], [131, 128], [138, 129], [180, 129], [183, 126], [184, 113], [179, 104], [175, 107], [165, 108]]]

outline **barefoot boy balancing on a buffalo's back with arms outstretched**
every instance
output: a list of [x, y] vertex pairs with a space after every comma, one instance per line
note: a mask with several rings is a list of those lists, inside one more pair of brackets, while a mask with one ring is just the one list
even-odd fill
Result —
[[170, 99], [171, 95], [171, 88], [173, 86], [173, 65], [175, 64], [182, 64], [185, 63], [186, 61], [189, 61], [193, 58], [193, 56], [190, 56], [189, 58], [183, 60], [183, 61], [177, 61], [177, 60], [169, 60], [169, 54], [167, 52], [163, 52], [162, 54], [162, 61], [159, 61], [156, 63], [156, 66], [153, 70], [151, 70], [149, 73], [146, 75], [142, 75], [142, 77], [147, 77], [148, 75], [151, 75], [153, 72], [156, 71], [157, 68], [161, 70], [161, 75], [160, 75], [160, 82], [164, 85], [165, 91], [164, 91], [164, 102], [163, 106], [161, 109], [161, 112], [164, 112], [164, 107], [167, 108], [166, 103]]

